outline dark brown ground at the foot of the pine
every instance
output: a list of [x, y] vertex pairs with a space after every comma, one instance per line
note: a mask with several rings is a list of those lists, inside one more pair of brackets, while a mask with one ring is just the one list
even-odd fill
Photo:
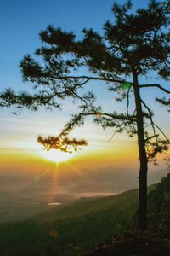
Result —
[[170, 231], [128, 232], [111, 239], [88, 256], [169, 256]]

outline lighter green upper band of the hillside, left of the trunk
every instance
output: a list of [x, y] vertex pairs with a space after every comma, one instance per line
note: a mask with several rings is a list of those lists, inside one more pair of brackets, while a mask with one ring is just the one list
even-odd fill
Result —
[[71, 204], [57, 206], [52, 211], [39, 215], [37, 219], [42, 221], [52, 221], [58, 218], [75, 218], [87, 216], [94, 212], [124, 212], [126, 207], [129, 209], [137, 204], [138, 189], [133, 189], [122, 194], [110, 195], [98, 198], [82, 198]]

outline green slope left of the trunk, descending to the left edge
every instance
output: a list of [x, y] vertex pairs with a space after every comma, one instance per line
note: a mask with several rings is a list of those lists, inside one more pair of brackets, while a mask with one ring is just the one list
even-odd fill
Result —
[[79, 200], [27, 221], [0, 225], [1, 255], [82, 255], [133, 227], [138, 189]]

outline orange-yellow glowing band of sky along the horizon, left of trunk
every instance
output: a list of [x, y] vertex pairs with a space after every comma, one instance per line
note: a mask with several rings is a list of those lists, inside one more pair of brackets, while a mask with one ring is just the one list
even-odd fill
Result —
[[[113, 145], [114, 146], [114, 145]], [[3, 152], [2, 152], [3, 151]], [[78, 172], [82, 169], [97, 169], [108, 167], [138, 166], [138, 148], [133, 143], [127, 147], [113, 148], [82, 148], [76, 153], [64, 153], [59, 150], [45, 151], [43, 149], [26, 150], [0, 150], [1, 170], [18, 170], [19, 172], [41, 171], [44, 168], [56, 170], [59, 164], [59, 171], [63, 168], [71, 171], [75, 168]]]

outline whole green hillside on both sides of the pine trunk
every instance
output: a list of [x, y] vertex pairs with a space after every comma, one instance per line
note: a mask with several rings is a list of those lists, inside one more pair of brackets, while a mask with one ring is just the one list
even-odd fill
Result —
[[[146, 244], [145, 246], [149, 247], [146, 241], [150, 240], [150, 237], [155, 237], [155, 240], [150, 240], [152, 247], [154, 243], [159, 247], [160, 241], [160, 250], [165, 251], [162, 255], [167, 255], [166, 250], [170, 249], [170, 236], [166, 231], [170, 230], [169, 188], [170, 175], [163, 178], [161, 183], [150, 187], [150, 232], [143, 235], [143, 238], [134, 233], [137, 226], [135, 220], [138, 212], [138, 189], [133, 189], [120, 195], [82, 199], [27, 221], [1, 224], [1, 255], [81, 256], [88, 253], [112, 255], [108, 253], [115, 250], [117, 242], [119, 245], [122, 242], [124, 246], [121, 246], [122, 253], [119, 247], [119, 253], [115, 255], [124, 255], [123, 247], [126, 252], [126, 247], [132, 248], [132, 244], [133, 247], [138, 247], [140, 241], [141, 245]], [[160, 235], [151, 235], [158, 234], [158, 231], [161, 238]], [[126, 236], [123, 235], [125, 232]], [[106, 245], [105, 241], [108, 241]], [[97, 251], [94, 250], [95, 247], [99, 247]], [[103, 247], [107, 250], [105, 251]], [[160, 253], [159, 250], [157, 251]], [[136, 254], [147, 255], [147, 253]]]

